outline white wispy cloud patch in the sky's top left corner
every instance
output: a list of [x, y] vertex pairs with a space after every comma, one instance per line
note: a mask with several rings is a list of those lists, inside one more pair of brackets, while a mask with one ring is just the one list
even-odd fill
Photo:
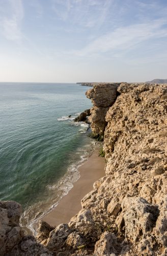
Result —
[[7, 0], [0, 12], [2, 35], [8, 40], [20, 41], [22, 39], [21, 21], [24, 17], [22, 1]]

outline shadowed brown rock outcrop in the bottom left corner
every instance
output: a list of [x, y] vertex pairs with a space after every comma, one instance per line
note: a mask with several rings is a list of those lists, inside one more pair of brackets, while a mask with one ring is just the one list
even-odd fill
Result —
[[14, 201], [0, 201], [0, 255], [51, 256], [33, 236], [25, 236], [19, 226], [21, 205]]

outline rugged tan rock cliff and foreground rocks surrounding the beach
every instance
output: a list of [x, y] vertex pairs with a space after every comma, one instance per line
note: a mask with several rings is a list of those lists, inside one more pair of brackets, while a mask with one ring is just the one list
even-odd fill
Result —
[[87, 97], [105, 176], [68, 224], [41, 221], [36, 239], [21, 206], [1, 201], [1, 255], [167, 255], [167, 84], [100, 83]]

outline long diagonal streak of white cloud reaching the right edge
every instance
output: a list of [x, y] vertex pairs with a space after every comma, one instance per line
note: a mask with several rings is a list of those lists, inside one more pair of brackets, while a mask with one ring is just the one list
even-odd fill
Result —
[[90, 56], [95, 53], [125, 51], [138, 46], [143, 41], [166, 37], [167, 31], [163, 26], [166, 19], [158, 19], [153, 22], [119, 27], [112, 32], [97, 37], [86, 47], [74, 50], [70, 54], [76, 56]]

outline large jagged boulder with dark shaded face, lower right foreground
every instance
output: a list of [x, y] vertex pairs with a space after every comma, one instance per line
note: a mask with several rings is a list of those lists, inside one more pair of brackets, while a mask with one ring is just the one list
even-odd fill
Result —
[[155, 227], [159, 215], [158, 205], [150, 204], [143, 198], [127, 197], [121, 208], [119, 228], [125, 226], [125, 237], [131, 242], [137, 242]]

